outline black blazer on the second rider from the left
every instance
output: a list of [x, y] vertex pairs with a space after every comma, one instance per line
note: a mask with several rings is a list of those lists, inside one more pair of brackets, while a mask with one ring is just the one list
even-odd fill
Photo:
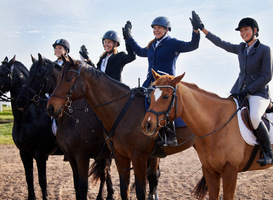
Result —
[[[121, 72], [123, 67], [136, 59], [135, 53], [131, 50], [130, 47], [126, 46], [126, 50], [128, 54], [125, 52], [119, 52], [117, 54], [112, 54], [108, 59], [107, 66], [105, 69], [105, 73], [111, 78], [121, 82]], [[106, 55], [105, 55], [106, 56]], [[101, 57], [98, 64], [97, 69], [101, 70], [101, 62], [105, 58]]]

